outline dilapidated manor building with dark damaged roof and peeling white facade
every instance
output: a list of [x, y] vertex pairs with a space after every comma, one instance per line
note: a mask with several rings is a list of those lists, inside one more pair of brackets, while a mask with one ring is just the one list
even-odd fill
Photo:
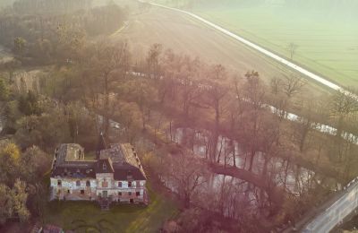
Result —
[[[148, 203], [146, 175], [131, 144], [111, 144], [85, 160], [79, 144], [55, 149], [50, 200]], [[103, 206], [102, 206], [103, 207]]]

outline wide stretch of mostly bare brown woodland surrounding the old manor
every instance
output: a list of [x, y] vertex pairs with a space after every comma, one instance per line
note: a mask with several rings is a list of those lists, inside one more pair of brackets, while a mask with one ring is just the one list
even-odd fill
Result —
[[[356, 138], [342, 136], [358, 134], [354, 98], [312, 99], [303, 78], [266, 83], [160, 44], [136, 56], [127, 41], [96, 37], [122, 26], [123, 8], [75, 2], [81, 11], [25, 14], [29, 1], [18, 1], [0, 13], [0, 43], [15, 56], [0, 70], [0, 135], [10, 138], [0, 144], [1, 223], [41, 218], [55, 146], [93, 152], [100, 133], [134, 144], [150, 176], [181, 201], [168, 232], [280, 228], [358, 175]], [[42, 6], [63, 9], [51, 3]], [[40, 72], [29, 84], [21, 69]]]

